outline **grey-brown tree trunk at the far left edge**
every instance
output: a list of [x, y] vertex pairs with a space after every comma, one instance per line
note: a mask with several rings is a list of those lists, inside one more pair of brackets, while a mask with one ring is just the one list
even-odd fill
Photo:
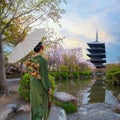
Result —
[[1, 38], [0, 38], [0, 94], [8, 94]]

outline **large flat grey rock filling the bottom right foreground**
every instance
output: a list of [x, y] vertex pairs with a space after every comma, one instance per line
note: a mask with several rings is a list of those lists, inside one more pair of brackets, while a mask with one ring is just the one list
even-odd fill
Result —
[[67, 120], [120, 120], [113, 112], [114, 106], [105, 103], [81, 105], [78, 112], [67, 116]]

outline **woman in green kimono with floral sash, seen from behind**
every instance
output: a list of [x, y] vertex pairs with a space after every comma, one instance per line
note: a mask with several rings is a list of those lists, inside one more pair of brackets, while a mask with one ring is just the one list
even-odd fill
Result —
[[47, 61], [41, 56], [43, 52], [41, 42], [34, 48], [34, 52], [36, 56], [31, 59], [31, 65], [28, 66], [32, 76], [30, 81], [31, 120], [47, 120], [51, 88]]

